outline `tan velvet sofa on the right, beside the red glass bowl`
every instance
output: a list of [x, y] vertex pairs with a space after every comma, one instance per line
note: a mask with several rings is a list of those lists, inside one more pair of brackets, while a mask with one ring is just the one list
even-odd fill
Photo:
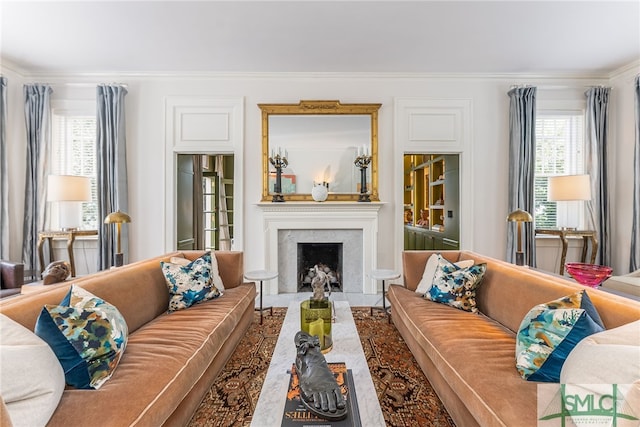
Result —
[[[392, 319], [458, 426], [537, 425], [537, 384], [515, 367], [516, 333], [535, 305], [585, 289], [557, 276], [466, 251], [449, 261], [487, 263], [477, 290], [481, 314], [427, 301], [415, 292], [434, 251], [403, 253], [404, 287], [389, 287]], [[588, 290], [607, 329], [640, 319], [640, 303]]]

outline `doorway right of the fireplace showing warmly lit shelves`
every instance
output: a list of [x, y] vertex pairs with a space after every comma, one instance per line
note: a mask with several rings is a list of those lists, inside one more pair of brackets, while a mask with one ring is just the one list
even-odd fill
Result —
[[459, 154], [405, 154], [404, 249], [460, 249]]

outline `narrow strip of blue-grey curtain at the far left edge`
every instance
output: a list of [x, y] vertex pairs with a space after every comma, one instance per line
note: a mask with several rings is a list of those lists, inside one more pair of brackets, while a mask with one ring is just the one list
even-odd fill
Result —
[[7, 161], [7, 78], [0, 77], [0, 259], [9, 258], [9, 165]]

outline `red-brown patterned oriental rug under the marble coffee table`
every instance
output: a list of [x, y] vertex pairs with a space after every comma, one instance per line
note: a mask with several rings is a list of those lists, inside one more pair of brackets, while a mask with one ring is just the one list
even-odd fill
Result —
[[[442, 402], [382, 312], [351, 309], [387, 426], [454, 427]], [[248, 426], [287, 312], [260, 314], [194, 414], [190, 427]], [[257, 421], [257, 420], [256, 420]]]

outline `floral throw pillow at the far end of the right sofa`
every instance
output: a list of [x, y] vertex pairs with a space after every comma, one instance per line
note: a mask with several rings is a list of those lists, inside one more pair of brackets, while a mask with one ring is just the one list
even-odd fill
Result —
[[476, 289], [482, 282], [487, 264], [459, 267], [438, 254], [438, 268], [424, 298], [477, 313]]

